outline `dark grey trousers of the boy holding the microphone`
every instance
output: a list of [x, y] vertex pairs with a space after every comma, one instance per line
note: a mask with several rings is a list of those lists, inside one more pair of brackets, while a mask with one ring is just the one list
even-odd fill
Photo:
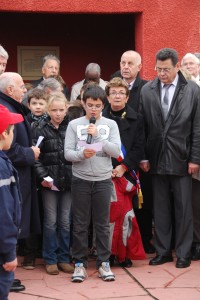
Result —
[[87, 266], [88, 227], [91, 210], [96, 233], [97, 268], [110, 257], [110, 199], [112, 180], [88, 181], [72, 178], [73, 245], [75, 262]]

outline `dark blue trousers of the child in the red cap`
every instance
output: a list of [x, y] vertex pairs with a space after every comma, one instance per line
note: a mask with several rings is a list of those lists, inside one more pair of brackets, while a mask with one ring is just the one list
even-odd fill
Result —
[[8, 300], [8, 293], [14, 280], [14, 273], [0, 266], [0, 300]]

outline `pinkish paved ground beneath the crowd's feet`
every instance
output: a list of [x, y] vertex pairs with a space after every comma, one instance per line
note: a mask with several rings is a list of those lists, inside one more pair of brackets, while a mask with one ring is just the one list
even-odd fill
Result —
[[149, 266], [149, 259], [133, 261], [132, 268], [112, 268], [116, 281], [103, 282], [91, 260], [87, 280], [72, 283], [71, 276], [63, 272], [48, 275], [42, 260], [37, 260], [32, 271], [24, 270], [21, 260], [16, 278], [26, 290], [10, 293], [9, 300], [200, 300], [200, 261], [186, 269], [177, 269], [175, 261], [162, 266]]

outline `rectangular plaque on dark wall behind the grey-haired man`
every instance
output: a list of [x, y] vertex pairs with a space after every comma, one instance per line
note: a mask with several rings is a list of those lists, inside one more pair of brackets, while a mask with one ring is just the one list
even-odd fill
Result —
[[24, 80], [35, 80], [41, 77], [43, 57], [52, 54], [59, 58], [59, 47], [55, 46], [18, 46], [18, 73]]

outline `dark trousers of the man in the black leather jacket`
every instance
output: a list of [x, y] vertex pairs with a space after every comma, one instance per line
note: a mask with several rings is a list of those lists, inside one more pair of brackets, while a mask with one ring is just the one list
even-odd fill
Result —
[[174, 199], [175, 252], [190, 257], [193, 240], [191, 176], [153, 175], [155, 248], [159, 255], [171, 254], [172, 205]]

